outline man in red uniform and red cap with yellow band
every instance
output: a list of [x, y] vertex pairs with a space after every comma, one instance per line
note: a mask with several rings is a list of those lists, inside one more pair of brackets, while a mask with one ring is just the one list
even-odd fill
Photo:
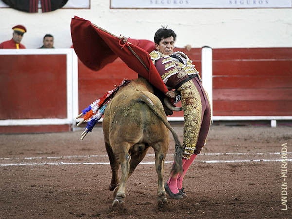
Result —
[[26, 49], [21, 40], [23, 34], [26, 32], [26, 28], [22, 25], [16, 25], [13, 28], [12, 39], [2, 42], [0, 44], [0, 49]]

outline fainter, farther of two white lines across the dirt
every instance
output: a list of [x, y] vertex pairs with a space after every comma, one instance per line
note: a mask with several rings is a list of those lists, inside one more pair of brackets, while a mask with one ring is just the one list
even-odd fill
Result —
[[[261, 152], [261, 153], [201, 153], [201, 155], [280, 155], [280, 152]], [[287, 152], [292, 154], [292, 152]], [[173, 156], [173, 154], [167, 154]], [[146, 156], [155, 156], [155, 154], [146, 154]], [[33, 160], [33, 159], [71, 159], [71, 158], [91, 158], [91, 157], [108, 157], [108, 155], [72, 155], [72, 156], [53, 156], [53, 157], [1, 157], [0, 160]]]

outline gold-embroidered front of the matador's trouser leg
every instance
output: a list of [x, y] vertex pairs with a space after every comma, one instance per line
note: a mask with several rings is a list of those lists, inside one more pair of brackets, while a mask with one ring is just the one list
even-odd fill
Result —
[[178, 88], [182, 95], [184, 113], [183, 158], [190, 159], [194, 154], [201, 127], [202, 103], [200, 93], [192, 80]]

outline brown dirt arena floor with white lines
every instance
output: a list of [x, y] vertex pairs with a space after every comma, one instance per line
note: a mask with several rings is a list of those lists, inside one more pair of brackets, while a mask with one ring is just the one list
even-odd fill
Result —
[[[1, 134], [0, 219], [292, 218], [292, 124], [243, 125], [212, 124], [207, 145], [185, 177], [188, 196], [169, 198], [164, 208], [156, 203], [153, 149], [128, 179], [125, 208], [115, 209], [100, 126], [83, 141], [82, 130]], [[173, 127], [182, 140], [183, 125]], [[174, 152], [170, 139], [164, 182]]]

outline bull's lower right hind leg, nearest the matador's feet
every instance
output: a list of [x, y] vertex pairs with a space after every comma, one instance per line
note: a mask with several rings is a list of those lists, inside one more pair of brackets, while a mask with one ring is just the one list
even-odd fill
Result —
[[[158, 187], [157, 187], [157, 204], [159, 207], [162, 207], [168, 204], [166, 198], [166, 192], [163, 184], [163, 168], [164, 168], [164, 160], [166, 157], [166, 152], [163, 151], [163, 143], [157, 143], [153, 146], [155, 151], [155, 167], [158, 177]], [[167, 148], [168, 149], [168, 146]]]

